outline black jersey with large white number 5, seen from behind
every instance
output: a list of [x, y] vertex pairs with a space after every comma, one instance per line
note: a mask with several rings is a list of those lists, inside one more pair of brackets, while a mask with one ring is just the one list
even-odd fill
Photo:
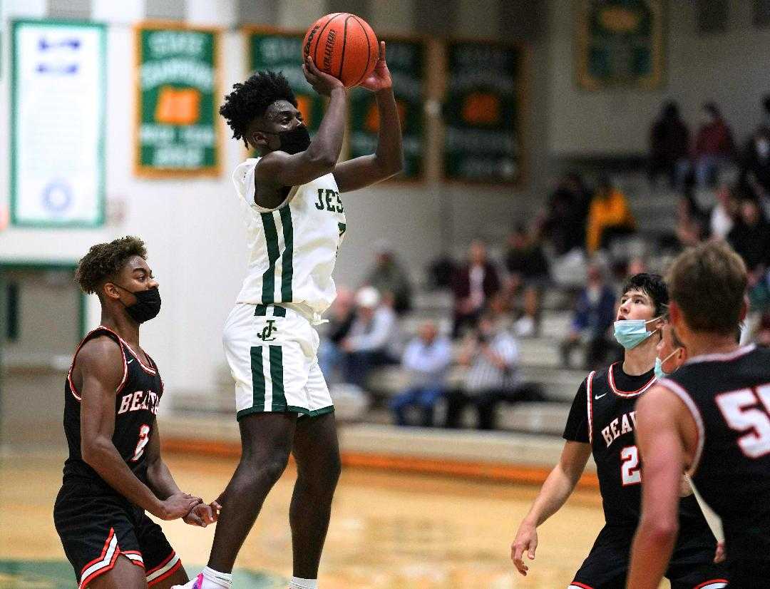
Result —
[[728, 559], [770, 564], [770, 350], [698, 356], [661, 385], [698, 427], [691, 477], [722, 519]]

